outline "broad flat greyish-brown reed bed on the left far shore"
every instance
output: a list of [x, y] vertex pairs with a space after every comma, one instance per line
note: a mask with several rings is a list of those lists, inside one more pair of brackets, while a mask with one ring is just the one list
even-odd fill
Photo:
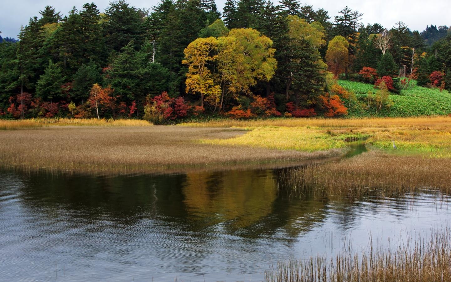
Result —
[[198, 139], [244, 134], [239, 129], [178, 126], [52, 126], [2, 130], [0, 163], [23, 169], [96, 173], [152, 172], [190, 167], [221, 168], [242, 162], [272, 162], [330, 157], [341, 151], [305, 153], [217, 146]]

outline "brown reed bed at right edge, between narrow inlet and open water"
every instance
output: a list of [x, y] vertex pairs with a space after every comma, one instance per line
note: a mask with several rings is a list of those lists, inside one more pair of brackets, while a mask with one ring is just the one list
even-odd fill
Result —
[[355, 157], [286, 171], [281, 192], [341, 195], [362, 199], [372, 194], [394, 196], [428, 188], [451, 192], [451, 158], [395, 155], [370, 151]]

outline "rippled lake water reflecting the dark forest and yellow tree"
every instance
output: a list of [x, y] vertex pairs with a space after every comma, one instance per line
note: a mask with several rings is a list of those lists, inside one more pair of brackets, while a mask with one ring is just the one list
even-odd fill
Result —
[[[0, 280], [262, 281], [278, 259], [446, 224], [447, 196], [288, 197], [290, 168], [83, 176], [0, 171]], [[395, 243], [394, 243], [395, 242]]]

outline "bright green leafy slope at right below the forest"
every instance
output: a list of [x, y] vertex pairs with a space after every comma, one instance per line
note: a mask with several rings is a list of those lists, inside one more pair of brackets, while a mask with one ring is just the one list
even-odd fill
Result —
[[345, 100], [350, 117], [364, 116], [433, 116], [451, 114], [451, 93], [437, 88], [424, 88], [411, 82], [409, 89], [401, 90], [400, 95], [390, 95], [390, 108], [376, 111], [376, 106], [368, 108], [368, 91], [375, 92], [372, 84], [339, 80], [338, 83], [355, 93], [357, 102]]

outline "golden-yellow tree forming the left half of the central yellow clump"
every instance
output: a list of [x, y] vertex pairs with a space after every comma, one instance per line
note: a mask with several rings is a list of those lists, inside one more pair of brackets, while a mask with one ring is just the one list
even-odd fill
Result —
[[188, 65], [186, 74], [186, 92], [199, 93], [201, 95], [201, 107], [205, 96], [210, 96], [219, 102], [221, 88], [215, 85], [213, 79], [213, 64], [216, 60], [217, 39], [215, 37], [198, 38], [189, 43], [184, 50], [185, 60]]

